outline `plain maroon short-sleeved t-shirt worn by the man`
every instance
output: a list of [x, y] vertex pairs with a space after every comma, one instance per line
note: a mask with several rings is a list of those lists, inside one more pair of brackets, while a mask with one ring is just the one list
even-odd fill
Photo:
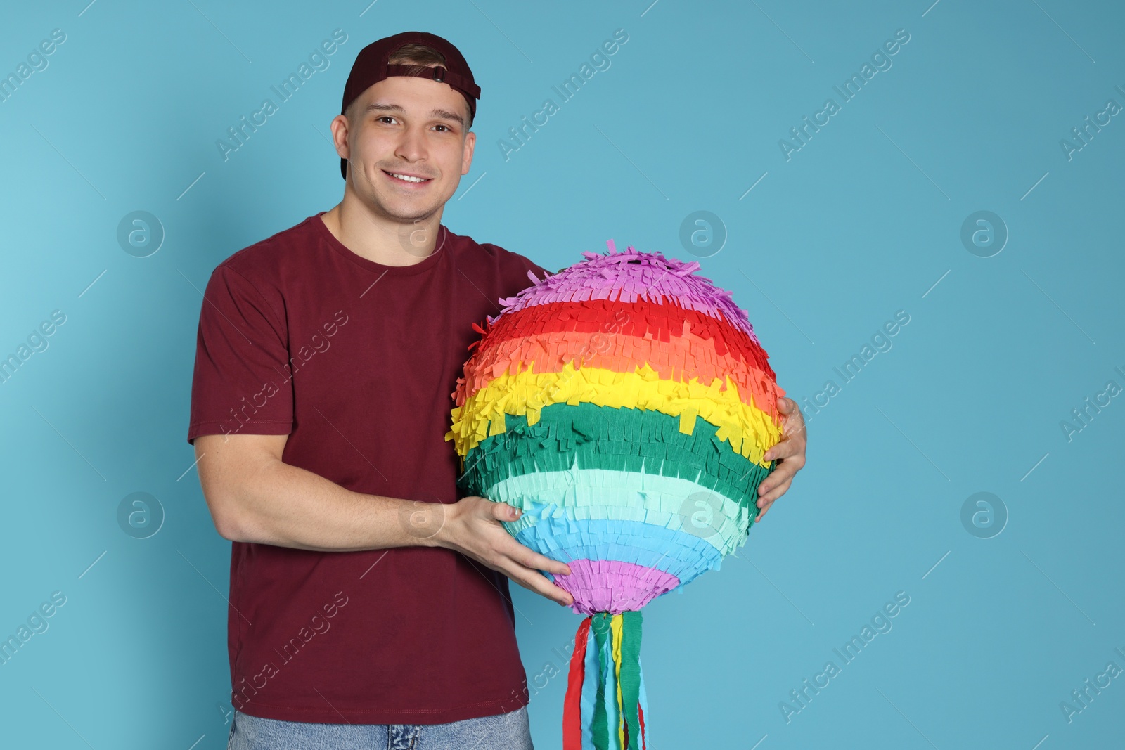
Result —
[[[472, 324], [546, 271], [444, 226], [420, 263], [382, 265], [320, 216], [212, 273], [188, 441], [288, 434], [286, 463], [342, 487], [456, 501], [444, 435]], [[438, 724], [528, 702], [507, 578], [443, 548], [234, 542], [227, 642], [232, 703], [266, 719]]]

